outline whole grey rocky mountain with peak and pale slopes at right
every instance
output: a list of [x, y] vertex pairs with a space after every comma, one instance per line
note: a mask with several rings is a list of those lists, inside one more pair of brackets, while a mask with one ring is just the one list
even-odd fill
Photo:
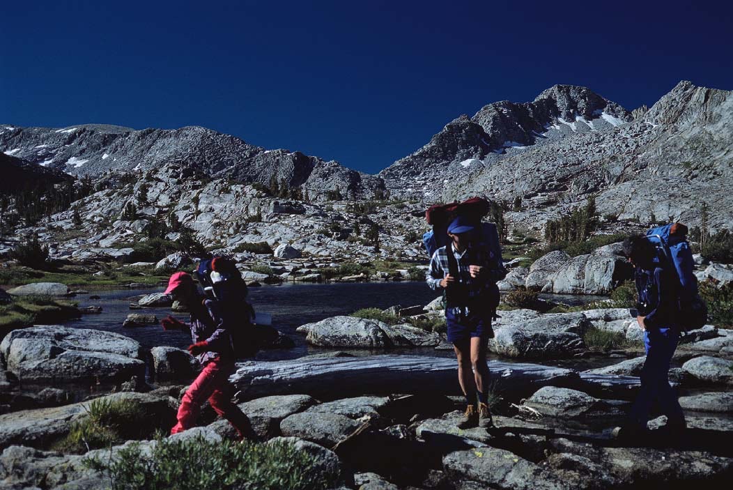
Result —
[[633, 113], [584, 87], [555, 86], [532, 103], [498, 102], [461, 116], [380, 172], [393, 195], [429, 201], [476, 194], [511, 205], [507, 219], [540, 231], [595, 197], [599, 211], [641, 222], [733, 229], [733, 92], [677, 84]]

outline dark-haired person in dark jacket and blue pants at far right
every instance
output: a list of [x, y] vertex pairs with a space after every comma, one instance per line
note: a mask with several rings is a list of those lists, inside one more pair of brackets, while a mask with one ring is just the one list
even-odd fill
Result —
[[679, 279], [674, 271], [660, 267], [655, 261], [657, 250], [647, 237], [631, 236], [624, 241], [623, 248], [634, 266], [639, 296], [636, 321], [644, 330], [647, 359], [641, 370], [641, 390], [619, 437], [637, 438], [647, 433], [647, 421], [655, 401], [667, 416], [666, 432], [679, 432], [685, 429], [685, 415], [668, 379], [669, 363], [679, 340]]

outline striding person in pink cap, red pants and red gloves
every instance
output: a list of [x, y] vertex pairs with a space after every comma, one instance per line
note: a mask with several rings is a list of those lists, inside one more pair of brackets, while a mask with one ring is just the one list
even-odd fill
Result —
[[204, 367], [183, 395], [178, 408], [178, 423], [171, 429], [171, 434], [193, 427], [202, 404], [208, 400], [216, 413], [237, 429], [242, 439], [257, 439], [247, 416], [232, 402], [229, 376], [235, 370], [235, 354], [230, 332], [231, 320], [222, 314], [218, 301], [199, 295], [190, 274], [173, 274], [165, 293], [191, 312], [191, 323], [183, 323], [169, 315], [161, 321], [163, 329], [190, 329], [194, 343], [188, 346], [188, 351]]

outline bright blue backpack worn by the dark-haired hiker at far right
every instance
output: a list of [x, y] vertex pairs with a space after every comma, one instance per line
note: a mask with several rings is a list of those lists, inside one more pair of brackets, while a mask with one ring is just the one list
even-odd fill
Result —
[[661, 268], [674, 272], [679, 281], [677, 307], [682, 331], [699, 329], [707, 321], [707, 304], [697, 288], [697, 277], [693, 272], [695, 261], [687, 233], [688, 228], [682, 223], [665, 224], [647, 231], [647, 238], [657, 249], [655, 262]]

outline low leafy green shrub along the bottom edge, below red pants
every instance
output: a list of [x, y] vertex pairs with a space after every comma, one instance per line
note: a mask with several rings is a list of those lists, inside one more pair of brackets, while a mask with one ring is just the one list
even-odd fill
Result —
[[314, 490], [336, 483], [333, 475], [317, 471], [313, 456], [293, 445], [211, 442], [200, 436], [158, 438], [150, 453], [133, 443], [114, 458], [86, 458], [84, 464], [107, 473], [112, 490]]

